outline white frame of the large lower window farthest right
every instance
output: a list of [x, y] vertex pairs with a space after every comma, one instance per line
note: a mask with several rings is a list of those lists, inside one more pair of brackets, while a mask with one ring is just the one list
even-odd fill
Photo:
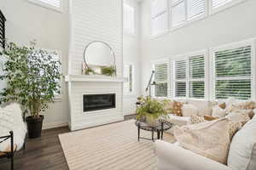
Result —
[[[215, 77], [215, 53], [218, 51], [222, 51], [222, 50], [227, 50], [227, 49], [232, 49], [232, 48], [241, 48], [244, 46], [251, 46], [252, 47], [252, 51], [251, 51], [251, 77], [220, 77], [220, 78], [216, 78]], [[217, 80], [242, 80], [242, 79], [251, 79], [251, 99], [255, 99], [255, 80], [256, 80], [256, 73], [255, 73], [255, 38], [253, 39], [249, 39], [249, 40], [245, 40], [245, 41], [241, 41], [241, 42], [232, 42], [232, 43], [228, 43], [228, 44], [224, 44], [218, 47], [214, 47], [214, 48], [210, 48], [210, 57], [211, 57], [211, 65], [212, 65], [212, 70], [211, 70], [211, 77], [210, 77], [210, 84], [211, 84], [211, 99], [216, 99], [216, 93], [215, 93], [215, 82]]]

